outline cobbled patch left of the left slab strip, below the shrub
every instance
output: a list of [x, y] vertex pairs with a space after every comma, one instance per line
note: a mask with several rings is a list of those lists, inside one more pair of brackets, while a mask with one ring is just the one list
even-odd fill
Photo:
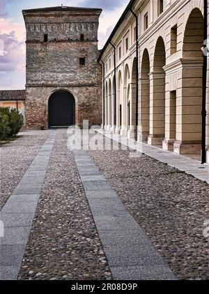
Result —
[[0, 146], [0, 210], [45, 143], [49, 131], [22, 132], [21, 137]]

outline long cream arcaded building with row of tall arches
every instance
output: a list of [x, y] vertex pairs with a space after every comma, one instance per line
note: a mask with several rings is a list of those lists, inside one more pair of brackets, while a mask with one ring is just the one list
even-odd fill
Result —
[[200, 154], [202, 47], [203, 0], [130, 1], [100, 54], [104, 128], [134, 138], [137, 128], [150, 145]]

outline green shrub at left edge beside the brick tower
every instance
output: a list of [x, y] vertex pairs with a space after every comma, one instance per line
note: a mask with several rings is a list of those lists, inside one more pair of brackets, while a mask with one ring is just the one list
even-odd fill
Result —
[[16, 109], [0, 107], [0, 139], [13, 137], [20, 131], [23, 122], [22, 114]]

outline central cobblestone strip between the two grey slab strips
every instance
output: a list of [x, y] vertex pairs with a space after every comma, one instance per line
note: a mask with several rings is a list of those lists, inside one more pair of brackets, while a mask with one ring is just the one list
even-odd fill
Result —
[[58, 130], [19, 279], [111, 279], [66, 142]]

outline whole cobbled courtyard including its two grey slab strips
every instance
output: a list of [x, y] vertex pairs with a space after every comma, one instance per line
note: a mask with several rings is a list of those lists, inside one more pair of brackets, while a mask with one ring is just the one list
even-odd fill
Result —
[[67, 139], [26, 132], [1, 148], [1, 279], [209, 279], [208, 183]]

